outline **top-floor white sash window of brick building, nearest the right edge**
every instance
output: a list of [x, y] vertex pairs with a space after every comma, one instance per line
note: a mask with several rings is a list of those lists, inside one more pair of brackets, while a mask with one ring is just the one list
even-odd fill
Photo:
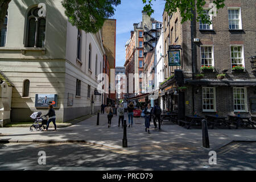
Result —
[[240, 7], [228, 7], [229, 11], [229, 29], [242, 29], [241, 9]]

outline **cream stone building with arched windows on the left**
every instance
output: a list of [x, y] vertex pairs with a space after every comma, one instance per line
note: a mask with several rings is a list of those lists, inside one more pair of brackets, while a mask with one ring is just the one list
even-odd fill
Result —
[[50, 103], [55, 104], [59, 122], [100, 110], [102, 97], [94, 95], [94, 90], [105, 55], [102, 31], [77, 30], [56, 0], [13, 0], [7, 22], [0, 70], [13, 83], [12, 122], [28, 121], [34, 111], [44, 114]]

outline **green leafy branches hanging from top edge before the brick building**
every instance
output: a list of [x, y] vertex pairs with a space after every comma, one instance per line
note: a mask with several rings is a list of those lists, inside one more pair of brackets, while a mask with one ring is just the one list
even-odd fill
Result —
[[[146, 4], [143, 7], [143, 10], [147, 12], [148, 15], [151, 15], [154, 13], [154, 10], [152, 9], [152, 0], [142, 0], [144, 4]], [[156, 0], [154, 0], [156, 1]], [[172, 13], [177, 12], [177, 9], [180, 10], [180, 15], [182, 17], [181, 23], [187, 22], [187, 20], [192, 20], [193, 18], [193, 11], [195, 11], [197, 17], [196, 20], [199, 22], [212, 24], [212, 21], [210, 20], [208, 14], [205, 14], [205, 11], [203, 9], [204, 5], [207, 3], [205, 0], [165, 0], [165, 10], [171, 15]], [[216, 9], [221, 9], [225, 6], [224, 2], [225, 0], [213, 0], [211, 1], [216, 5]], [[209, 12], [209, 10], [208, 10]], [[213, 11], [210, 11], [210, 13], [214, 13]]]

